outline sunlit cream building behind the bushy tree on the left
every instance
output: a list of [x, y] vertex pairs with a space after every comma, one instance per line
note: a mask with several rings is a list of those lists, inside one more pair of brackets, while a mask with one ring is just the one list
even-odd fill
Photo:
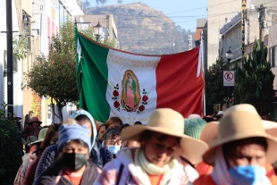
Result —
[[[25, 0], [21, 0], [24, 4]], [[80, 4], [77, 0], [36, 0], [31, 2], [29, 7], [32, 7], [30, 14], [29, 32], [31, 49], [29, 57], [22, 65], [23, 70], [23, 114], [28, 114], [30, 110], [34, 112], [42, 120], [43, 124], [58, 122], [58, 118], [52, 114], [52, 105], [47, 97], [39, 97], [38, 94], [29, 88], [28, 73], [35, 62], [37, 55], [48, 55], [51, 39], [55, 36], [66, 21], [74, 21], [76, 15], [83, 15], [80, 9]], [[76, 107], [68, 105], [63, 108], [63, 117], [67, 118], [72, 110]], [[55, 112], [57, 112], [55, 106]]]

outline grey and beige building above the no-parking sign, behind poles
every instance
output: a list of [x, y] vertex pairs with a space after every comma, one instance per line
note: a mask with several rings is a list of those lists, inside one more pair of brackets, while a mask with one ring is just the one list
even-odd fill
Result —
[[[264, 46], [267, 46], [268, 38], [265, 37], [269, 31], [268, 28], [272, 25], [274, 15], [277, 14], [277, 6], [266, 6], [266, 28], [264, 29]], [[257, 19], [258, 12], [256, 9], [247, 9], [245, 12], [245, 54], [252, 53], [255, 39], [259, 39], [259, 21]], [[235, 15], [231, 21], [224, 24], [220, 29], [219, 55], [223, 62], [226, 62], [225, 53], [231, 50], [233, 58], [231, 59], [231, 67], [236, 61], [240, 63], [242, 51], [242, 34], [241, 34], [241, 13]]]

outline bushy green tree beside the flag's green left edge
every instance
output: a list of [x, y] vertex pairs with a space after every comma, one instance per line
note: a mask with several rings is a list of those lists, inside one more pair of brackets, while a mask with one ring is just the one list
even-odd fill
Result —
[[[79, 100], [75, 74], [75, 31], [74, 23], [63, 24], [59, 34], [52, 38], [49, 56], [39, 55], [36, 63], [29, 72], [29, 87], [40, 97], [50, 97], [57, 105], [58, 114], [63, 122], [63, 106]], [[93, 38], [92, 28], [83, 33]], [[113, 46], [113, 42], [103, 41], [105, 45]], [[53, 101], [54, 100], [54, 101]], [[54, 106], [54, 104], [52, 104]], [[53, 109], [54, 110], [54, 109]]]

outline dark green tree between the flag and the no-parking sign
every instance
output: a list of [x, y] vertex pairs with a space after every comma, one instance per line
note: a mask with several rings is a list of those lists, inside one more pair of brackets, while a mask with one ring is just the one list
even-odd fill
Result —
[[[227, 69], [226, 63], [222, 59], [209, 67], [205, 72], [206, 82], [206, 114], [213, 114], [214, 105], [224, 104], [228, 100], [228, 87], [223, 86], [223, 71]], [[229, 87], [229, 98], [231, 97], [233, 87]]]

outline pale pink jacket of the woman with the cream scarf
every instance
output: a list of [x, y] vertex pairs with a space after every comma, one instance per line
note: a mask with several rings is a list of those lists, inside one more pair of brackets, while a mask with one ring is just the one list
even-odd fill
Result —
[[[113, 161], [105, 164], [102, 173], [98, 175], [97, 181], [95, 181], [93, 185], [143, 185], [136, 176], [136, 168], [133, 164], [132, 157], [134, 150], [135, 148], [126, 148], [119, 151]], [[197, 171], [190, 167], [189, 164], [186, 166], [178, 164], [174, 171], [175, 172], [173, 172], [172, 179], [169, 181], [168, 185], [185, 185], [188, 184], [188, 181], [195, 181], [198, 177]], [[122, 172], [121, 175], [119, 174], [120, 172]], [[190, 175], [190, 177], [187, 178], [187, 173], [193, 175]]]

